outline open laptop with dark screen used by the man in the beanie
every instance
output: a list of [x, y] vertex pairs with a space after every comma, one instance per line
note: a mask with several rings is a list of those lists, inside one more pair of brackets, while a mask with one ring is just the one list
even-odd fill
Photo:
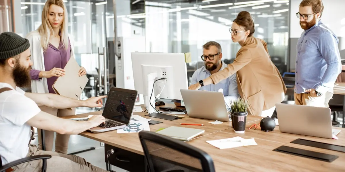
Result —
[[[89, 131], [98, 133], [128, 126], [137, 97], [138, 92], [136, 90], [111, 87], [102, 112], [102, 116], [106, 118], [106, 123], [90, 128]], [[88, 118], [80, 120], [88, 120]]]

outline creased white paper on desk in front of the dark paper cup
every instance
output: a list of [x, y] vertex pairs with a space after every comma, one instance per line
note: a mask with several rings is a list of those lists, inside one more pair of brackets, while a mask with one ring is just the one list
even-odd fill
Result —
[[253, 139], [244, 139], [242, 137], [233, 137], [228, 139], [219, 139], [219, 140], [210, 140], [206, 141], [212, 146], [219, 149], [235, 148], [240, 146], [253, 146], [257, 145], [254, 138]]

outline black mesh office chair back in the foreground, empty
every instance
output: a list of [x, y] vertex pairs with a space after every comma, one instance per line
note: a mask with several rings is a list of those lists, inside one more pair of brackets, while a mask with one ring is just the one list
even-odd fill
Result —
[[150, 172], [215, 172], [212, 158], [203, 150], [154, 132], [139, 132]]

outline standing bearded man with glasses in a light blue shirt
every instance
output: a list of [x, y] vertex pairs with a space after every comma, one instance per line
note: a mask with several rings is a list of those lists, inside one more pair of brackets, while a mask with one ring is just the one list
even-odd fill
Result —
[[303, 0], [296, 13], [304, 32], [297, 42], [295, 104], [329, 107], [341, 73], [337, 36], [321, 22], [321, 0]]

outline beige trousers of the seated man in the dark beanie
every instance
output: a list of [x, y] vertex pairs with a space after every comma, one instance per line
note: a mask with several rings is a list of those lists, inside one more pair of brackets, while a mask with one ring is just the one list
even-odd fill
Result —
[[[34, 155], [51, 155], [51, 158], [47, 159], [47, 172], [106, 172], [76, 155], [41, 151], [36, 145], [31, 144], [27, 157]], [[29, 161], [12, 167], [13, 172], [41, 172], [41, 168], [42, 160]]]

